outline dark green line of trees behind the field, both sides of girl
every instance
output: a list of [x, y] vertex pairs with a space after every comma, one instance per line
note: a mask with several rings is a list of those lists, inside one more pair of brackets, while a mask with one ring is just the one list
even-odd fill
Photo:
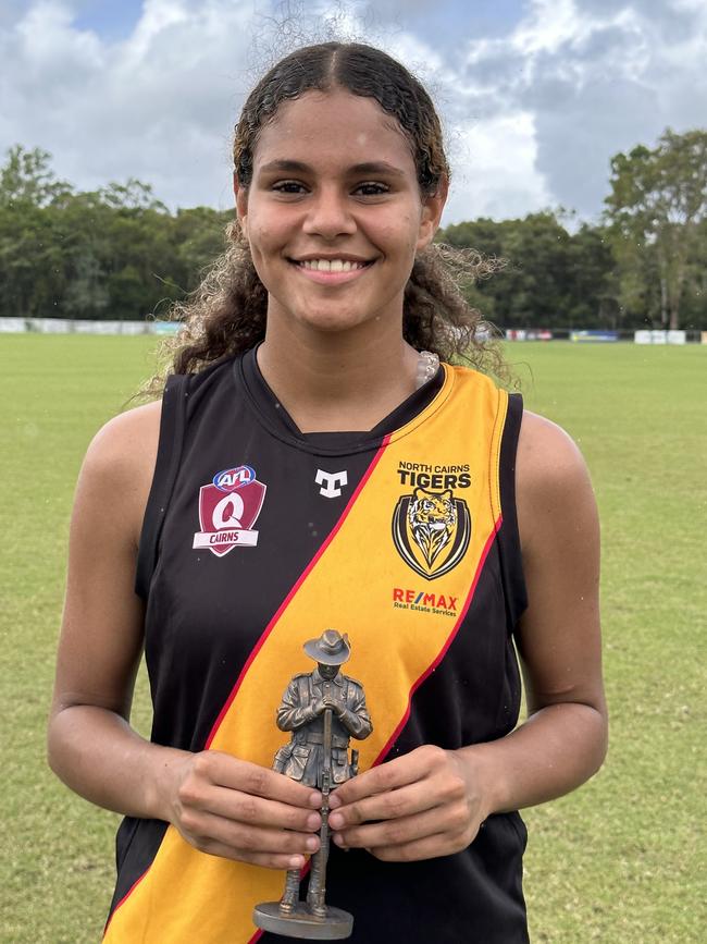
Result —
[[[464, 291], [499, 328], [707, 330], [707, 131], [668, 130], [611, 159], [600, 221], [561, 210], [476, 219], [437, 238], [504, 260]], [[149, 184], [90, 192], [51, 156], [10, 148], [0, 169], [0, 315], [165, 316], [224, 245], [233, 211], [171, 212]]]

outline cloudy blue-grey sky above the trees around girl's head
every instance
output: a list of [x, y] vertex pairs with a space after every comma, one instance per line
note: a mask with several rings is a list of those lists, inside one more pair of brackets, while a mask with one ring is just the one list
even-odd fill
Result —
[[42, 147], [82, 189], [135, 176], [172, 208], [225, 209], [248, 89], [333, 37], [432, 89], [443, 224], [559, 205], [596, 219], [611, 155], [707, 125], [707, 0], [0, 0], [0, 151]]

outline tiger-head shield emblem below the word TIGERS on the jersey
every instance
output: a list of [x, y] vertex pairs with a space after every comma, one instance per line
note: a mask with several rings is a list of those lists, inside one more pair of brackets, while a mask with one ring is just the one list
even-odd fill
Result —
[[463, 499], [451, 489], [431, 492], [417, 488], [401, 495], [393, 513], [393, 540], [415, 574], [434, 580], [463, 557], [471, 537], [471, 518]]

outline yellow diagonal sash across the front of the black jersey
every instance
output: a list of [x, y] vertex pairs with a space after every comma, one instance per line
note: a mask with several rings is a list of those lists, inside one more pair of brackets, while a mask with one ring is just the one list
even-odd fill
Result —
[[[384, 440], [320, 554], [266, 627], [214, 725], [211, 749], [271, 767], [287, 740], [273, 722], [283, 691], [295, 672], [314, 667], [302, 643], [334, 627], [348, 633], [352, 651], [345, 672], [362, 683], [373, 721], [373, 734], [352, 741], [361, 770], [385, 757], [407, 720], [412, 692], [461, 623], [500, 523], [498, 463], [508, 396], [474, 371], [445, 367], [445, 372], [433, 402]], [[429, 579], [415, 573], [392, 538], [400, 499], [414, 493], [410, 476], [401, 480], [400, 470], [464, 464], [471, 485], [452, 491], [469, 510], [468, 548], [451, 569]], [[424, 553], [417, 545], [413, 551], [424, 565]], [[436, 594], [427, 597], [429, 605], [425, 593]], [[435, 605], [439, 597], [445, 612]], [[246, 944], [259, 936], [253, 906], [278, 899], [283, 885], [284, 872], [199, 853], [169, 826], [152, 865], [115, 909], [104, 941]]]

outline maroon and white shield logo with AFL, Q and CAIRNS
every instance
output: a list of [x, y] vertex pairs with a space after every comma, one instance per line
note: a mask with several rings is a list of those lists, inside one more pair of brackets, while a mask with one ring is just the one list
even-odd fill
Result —
[[255, 548], [258, 531], [252, 526], [265, 499], [266, 487], [249, 465], [223, 469], [208, 486], [199, 489], [199, 525], [194, 536], [195, 550], [208, 548], [223, 557], [234, 548]]

